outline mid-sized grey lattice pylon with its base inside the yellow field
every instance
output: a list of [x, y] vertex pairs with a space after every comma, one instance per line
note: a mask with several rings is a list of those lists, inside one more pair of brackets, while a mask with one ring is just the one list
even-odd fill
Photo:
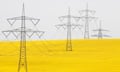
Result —
[[60, 21], [67, 19], [67, 23], [56, 25], [56, 28], [62, 27], [63, 29], [67, 29], [67, 42], [66, 42], [66, 51], [72, 51], [72, 39], [71, 39], [71, 31], [72, 29], [81, 29], [81, 25], [71, 23], [72, 19], [75, 19], [76, 22], [79, 21], [80, 17], [72, 16], [70, 13], [70, 8], [68, 10], [68, 15], [59, 17]]

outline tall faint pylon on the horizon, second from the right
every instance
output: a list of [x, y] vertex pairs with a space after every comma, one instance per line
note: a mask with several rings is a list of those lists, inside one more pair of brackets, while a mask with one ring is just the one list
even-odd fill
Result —
[[81, 16], [81, 19], [84, 20], [85, 22], [84, 39], [90, 38], [90, 32], [89, 32], [90, 21], [93, 19], [97, 19], [97, 17], [93, 16], [94, 13], [95, 13], [94, 10], [89, 10], [88, 4], [85, 10], [80, 10], [80, 14], [84, 14], [83, 16]]

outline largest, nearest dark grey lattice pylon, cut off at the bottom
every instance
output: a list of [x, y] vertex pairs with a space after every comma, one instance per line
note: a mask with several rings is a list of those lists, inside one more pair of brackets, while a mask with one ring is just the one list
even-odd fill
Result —
[[39, 23], [40, 19], [35, 19], [35, 18], [25, 16], [24, 4], [22, 9], [22, 16], [7, 19], [10, 25], [13, 25], [16, 22], [16, 20], [21, 21], [21, 27], [13, 30], [3, 31], [3, 34], [6, 37], [8, 37], [10, 34], [13, 34], [16, 38], [18, 38], [18, 36], [21, 36], [18, 72], [28, 72], [27, 57], [26, 57], [27, 56], [26, 55], [26, 36], [31, 38], [34, 34], [36, 34], [40, 38], [44, 34], [44, 32], [26, 28], [26, 20], [30, 20], [36, 26]]

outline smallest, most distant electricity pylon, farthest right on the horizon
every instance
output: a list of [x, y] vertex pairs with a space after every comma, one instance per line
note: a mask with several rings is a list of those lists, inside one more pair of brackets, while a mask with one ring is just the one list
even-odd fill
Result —
[[98, 39], [103, 39], [103, 37], [110, 37], [109, 35], [103, 34], [103, 31], [108, 31], [108, 30], [102, 29], [101, 21], [99, 23], [99, 29], [95, 29], [93, 31], [98, 32], [98, 34], [92, 35], [92, 37], [98, 37]]

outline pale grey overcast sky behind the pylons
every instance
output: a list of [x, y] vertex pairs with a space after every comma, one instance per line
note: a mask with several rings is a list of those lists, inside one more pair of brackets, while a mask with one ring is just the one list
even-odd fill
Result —
[[[105, 34], [112, 38], [120, 37], [120, 0], [0, 0], [0, 31], [18, 28], [20, 23], [16, 22], [11, 27], [6, 21], [7, 18], [20, 16], [22, 4], [25, 4], [26, 16], [39, 18], [41, 21], [37, 28], [32, 23], [26, 23], [27, 27], [45, 31], [45, 39], [65, 39], [66, 30], [57, 30], [55, 25], [61, 24], [58, 17], [67, 15], [68, 8], [71, 14], [80, 16], [79, 11], [86, 8], [88, 3], [90, 10], [95, 10], [95, 17], [102, 20], [102, 27], [110, 30]], [[84, 25], [84, 23], [80, 23]], [[98, 22], [90, 23], [90, 35], [94, 34], [93, 29], [98, 28]], [[72, 31], [72, 38], [83, 38], [84, 28]], [[5, 39], [0, 33], [0, 39]]]

